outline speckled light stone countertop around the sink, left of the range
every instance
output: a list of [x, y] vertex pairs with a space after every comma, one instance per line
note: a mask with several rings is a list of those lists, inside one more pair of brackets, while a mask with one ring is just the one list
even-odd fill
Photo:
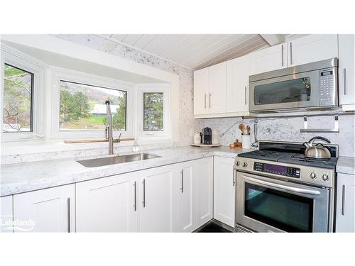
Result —
[[[148, 150], [144, 152], [160, 157], [102, 167], [84, 167], [72, 158], [1, 165], [0, 196], [31, 192], [33, 190], [72, 184], [99, 177], [108, 177], [114, 174], [133, 172], [204, 157], [221, 156], [234, 158], [237, 154], [246, 153], [248, 151], [251, 150], [231, 149], [225, 146], [218, 148], [195, 148], [186, 146]], [[101, 155], [97, 157], [107, 156]], [[76, 158], [76, 160], [78, 159], [87, 159], [87, 157]]]

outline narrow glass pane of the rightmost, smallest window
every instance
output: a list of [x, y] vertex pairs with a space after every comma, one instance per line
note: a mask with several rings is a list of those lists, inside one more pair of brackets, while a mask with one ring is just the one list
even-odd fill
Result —
[[164, 130], [164, 94], [163, 92], [143, 93], [144, 131]]

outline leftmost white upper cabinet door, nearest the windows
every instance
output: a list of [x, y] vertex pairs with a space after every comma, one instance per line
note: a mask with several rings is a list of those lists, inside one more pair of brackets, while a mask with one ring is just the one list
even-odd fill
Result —
[[194, 114], [207, 113], [209, 68], [194, 72]]

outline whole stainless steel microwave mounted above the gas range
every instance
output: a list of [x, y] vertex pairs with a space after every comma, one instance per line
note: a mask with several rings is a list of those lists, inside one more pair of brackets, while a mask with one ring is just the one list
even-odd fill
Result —
[[249, 77], [249, 111], [252, 113], [337, 108], [337, 58]]

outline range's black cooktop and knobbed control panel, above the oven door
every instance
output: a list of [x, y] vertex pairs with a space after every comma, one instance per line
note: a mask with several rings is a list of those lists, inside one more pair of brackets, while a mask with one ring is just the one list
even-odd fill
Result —
[[259, 150], [241, 153], [236, 157], [234, 168], [290, 182], [334, 187], [338, 145], [326, 146], [332, 157], [312, 159], [303, 155], [305, 146], [302, 143], [261, 140]]

